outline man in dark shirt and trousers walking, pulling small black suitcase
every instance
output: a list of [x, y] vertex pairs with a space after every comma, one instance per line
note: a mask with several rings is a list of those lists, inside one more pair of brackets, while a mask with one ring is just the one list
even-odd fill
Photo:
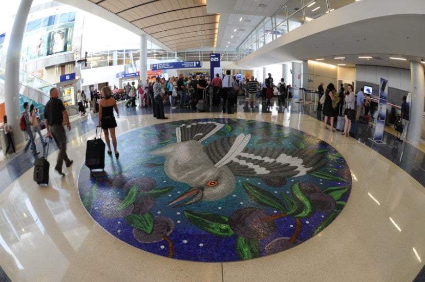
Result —
[[63, 177], [65, 176], [65, 173], [62, 172], [63, 161], [65, 161], [67, 167], [73, 163], [67, 155], [67, 135], [62, 125], [63, 119], [66, 121], [68, 131], [71, 130], [71, 124], [69, 123], [68, 112], [58, 97], [59, 91], [57, 88], [52, 88], [50, 90], [50, 100], [44, 109], [44, 122], [46, 124], [47, 136], [53, 137], [59, 148], [55, 170]]

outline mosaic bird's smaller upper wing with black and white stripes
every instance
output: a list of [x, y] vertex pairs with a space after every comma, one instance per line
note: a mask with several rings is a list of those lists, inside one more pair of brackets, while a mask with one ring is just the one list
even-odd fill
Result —
[[177, 142], [189, 140], [204, 141], [215, 134], [224, 124], [215, 121], [197, 122], [189, 125], [182, 124], [176, 128]]

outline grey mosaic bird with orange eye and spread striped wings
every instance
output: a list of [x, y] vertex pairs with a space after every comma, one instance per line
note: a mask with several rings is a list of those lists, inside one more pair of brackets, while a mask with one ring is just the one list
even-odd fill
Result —
[[164, 170], [169, 178], [190, 185], [168, 206], [183, 200], [186, 201], [176, 207], [222, 199], [235, 189], [235, 176], [299, 177], [327, 163], [323, 155], [312, 149], [247, 147], [249, 134], [220, 138], [206, 146], [201, 144], [223, 126], [213, 121], [182, 124], [176, 128], [177, 143], [151, 153], [165, 157]]

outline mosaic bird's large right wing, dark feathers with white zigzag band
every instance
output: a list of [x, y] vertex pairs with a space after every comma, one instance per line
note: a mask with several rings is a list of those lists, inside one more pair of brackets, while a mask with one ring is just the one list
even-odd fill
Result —
[[235, 176], [289, 178], [306, 175], [327, 164], [314, 149], [245, 148], [226, 166]]

